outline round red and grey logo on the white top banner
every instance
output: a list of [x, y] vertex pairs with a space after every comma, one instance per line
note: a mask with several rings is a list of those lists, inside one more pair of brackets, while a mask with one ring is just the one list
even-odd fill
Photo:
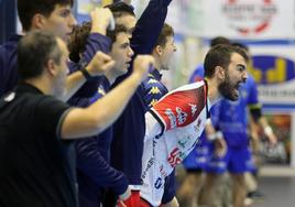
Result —
[[272, 0], [225, 0], [221, 10], [229, 28], [242, 35], [253, 35], [270, 28], [277, 6]]

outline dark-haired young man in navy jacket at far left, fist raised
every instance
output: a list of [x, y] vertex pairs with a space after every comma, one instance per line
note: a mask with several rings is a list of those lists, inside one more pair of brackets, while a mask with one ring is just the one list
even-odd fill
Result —
[[[67, 42], [76, 24], [70, 10], [73, 3], [73, 0], [18, 0], [18, 13], [23, 32], [26, 33], [33, 30], [50, 31]], [[101, 39], [103, 39], [102, 35], [106, 33], [106, 28], [109, 25], [112, 14], [106, 10], [103, 12], [95, 11], [91, 15], [96, 24], [94, 24], [91, 36], [89, 36], [87, 51], [83, 55], [85, 63], [89, 63], [92, 59], [96, 55], [95, 52], [98, 51], [97, 48], [106, 47], [108, 44]], [[11, 90], [18, 83], [17, 45], [22, 35], [12, 35], [10, 41], [0, 46], [0, 95]], [[83, 73], [75, 73], [68, 76], [67, 95], [63, 99], [68, 99], [89, 76], [102, 74], [102, 72], [96, 72], [96, 58], [92, 61], [92, 64], [87, 65], [81, 70]], [[80, 66], [77, 64], [75, 67], [80, 69]]]

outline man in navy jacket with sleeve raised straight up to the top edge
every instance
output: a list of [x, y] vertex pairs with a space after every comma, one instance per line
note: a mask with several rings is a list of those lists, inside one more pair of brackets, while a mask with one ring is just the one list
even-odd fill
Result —
[[[133, 25], [134, 30], [132, 32], [130, 44], [135, 55], [151, 54], [163, 28], [167, 14], [167, 7], [171, 1], [172, 0], [151, 0], [135, 26]], [[116, 22], [118, 23], [120, 21], [125, 25], [125, 23], [130, 23], [132, 15], [124, 10], [121, 10], [122, 6], [120, 6], [120, 3], [113, 3], [108, 8], [113, 12]], [[132, 25], [129, 28], [132, 29]], [[131, 72], [132, 67], [129, 68], [129, 72], [125, 75], [118, 78], [113, 86], [117, 86], [120, 81], [127, 78]], [[114, 123], [113, 141], [111, 145], [111, 165], [127, 175], [132, 194], [136, 199], [140, 199], [141, 157], [145, 133], [145, 106], [143, 101], [143, 91], [142, 87], [136, 89], [135, 95], [129, 101], [123, 115]], [[109, 196], [107, 200], [116, 200], [113, 198], [109, 199]], [[113, 204], [107, 203], [106, 205], [111, 206]]]

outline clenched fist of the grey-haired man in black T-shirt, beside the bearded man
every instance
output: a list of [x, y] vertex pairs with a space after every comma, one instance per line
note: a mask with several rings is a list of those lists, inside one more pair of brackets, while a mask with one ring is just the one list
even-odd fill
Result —
[[149, 69], [154, 66], [154, 57], [151, 55], [138, 55], [133, 64], [132, 75], [136, 75], [141, 80], [145, 79]]

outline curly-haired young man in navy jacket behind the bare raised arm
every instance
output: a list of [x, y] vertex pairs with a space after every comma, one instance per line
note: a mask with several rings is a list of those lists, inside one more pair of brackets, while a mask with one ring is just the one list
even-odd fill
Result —
[[[90, 34], [91, 23], [84, 22], [81, 26], [76, 26], [72, 34], [69, 44], [69, 56], [79, 62], [79, 55], [85, 51], [85, 42]], [[133, 51], [130, 47], [129, 32], [122, 25], [117, 25], [114, 31], [108, 31], [107, 36], [111, 40], [110, 56], [116, 65], [100, 77], [99, 87], [95, 96], [90, 98], [74, 97], [70, 103], [87, 107], [94, 101], [103, 97], [110, 90], [114, 79], [127, 73]], [[110, 188], [122, 200], [132, 197], [128, 188], [128, 179], [122, 172], [110, 166], [110, 144], [112, 140], [112, 128], [108, 128], [101, 134], [76, 142], [77, 154], [77, 181], [79, 186], [80, 207], [100, 206], [103, 199], [103, 192]]]

